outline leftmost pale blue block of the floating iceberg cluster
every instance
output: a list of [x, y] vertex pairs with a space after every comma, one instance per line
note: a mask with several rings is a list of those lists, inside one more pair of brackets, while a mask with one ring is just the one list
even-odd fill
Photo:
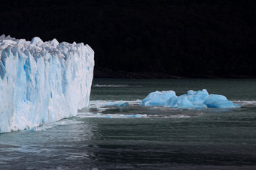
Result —
[[167, 100], [175, 97], [175, 91], [155, 91], [142, 100], [142, 106], [164, 106]]

